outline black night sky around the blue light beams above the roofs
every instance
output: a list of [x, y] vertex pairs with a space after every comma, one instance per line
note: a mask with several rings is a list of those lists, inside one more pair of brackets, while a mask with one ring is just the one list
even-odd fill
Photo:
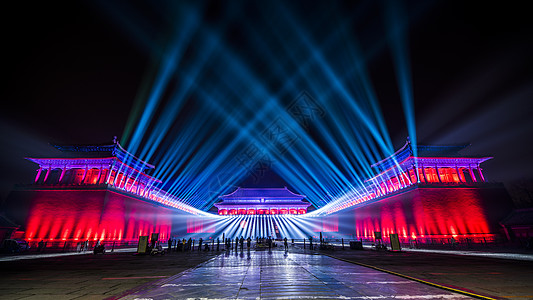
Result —
[[[284, 62], [285, 75], [289, 76], [298, 69], [298, 59], [308, 57], [308, 49], [290, 34], [294, 24], [321, 46], [317, 46], [319, 51], [326, 49], [325, 56], [331, 58], [334, 70], [348, 68], [343, 65], [350, 62], [342, 58], [349, 50], [343, 48], [342, 39], [326, 47], [321, 43], [334, 34], [336, 26], [344, 24], [348, 28], [345, 39], [356, 38], [367, 58], [371, 84], [390, 139], [398, 149], [408, 133], [393, 56], [387, 43], [376, 46], [386, 32], [384, 7], [390, 5], [387, 3], [4, 3], [1, 22], [6, 75], [0, 91], [2, 200], [13, 184], [32, 181], [35, 166], [24, 157], [57, 155], [49, 143], [105, 143], [115, 135], [123, 140], [128, 124], [135, 123], [130, 118], [135, 101], [146, 102], [144, 83], [147, 78], [153, 79], [150, 74], [162, 68], [162, 49], [168, 47], [176, 32], [185, 30], [176, 26], [179, 22], [172, 13], [182, 6], [197, 11], [198, 28], [215, 32], [217, 43], [230, 49], [236, 59], [258, 74], [257, 78], [271, 92], [283, 87], [284, 77], [261, 70], [270, 70], [269, 64], [279, 58]], [[471, 143], [466, 154], [494, 156], [484, 164], [486, 178], [511, 183], [531, 179], [533, 175], [533, 20], [525, 4], [499, 4], [407, 1], [400, 6], [408, 22], [407, 63], [418, 142]], [[295, 23], [284, 21], [277, 10], [279, 6], [288, 8]], [[183, 14], [180, 16], [185, 17]], [[257, 51], [265, 47], [258, 45], [258, 40], [267, 43], [274, 53], [271, 58]], [[196, 37], [186, 43], [179, 68], [191, 70], [195, 55], [202, 49]], [[292, 48], [294, 56], [289, 60], [284, 54], [287, 50], [283, 49]], [[342, 53], [337, 58], [336, 49]], [[217, 51], [222, 50], [215, 49], [211, 55], [217, 55]], [[213, 74], [234, 64], [224, 66], [215, 59], [209, 62], [201, 71], [199, 85], [208, 83], [216, 87], [220, 78]], [[228, 74], [231, 76], [231, 72]], [[313, 73], [308, 76], [319, 78]], [[344, 78], [345, 82], [350, 80], [356, 79]], [[316, 91], [321, 89], [308, 84], [297, 80], [295, 89], [310, 91], [320, 99]], [[188, 120], [201, 112], [192, 90], [180, 109], [179, 120]], [[295, 95], [283, 96], [283, 103], [288, 103]], [[238, 107], [242, 105], [239, 101], [246, 100], [221, 103]], [[333, 115], [328, 115], [328, 105], [323, 107], [327, 116]], [[173, 126], [172, 130], [179, 131], [182, 125]], [[310, 131], [311, 136], [321, 140], [317, 130]], [[157, 164], [154, 160], [157, 156], [150, 160]]]

